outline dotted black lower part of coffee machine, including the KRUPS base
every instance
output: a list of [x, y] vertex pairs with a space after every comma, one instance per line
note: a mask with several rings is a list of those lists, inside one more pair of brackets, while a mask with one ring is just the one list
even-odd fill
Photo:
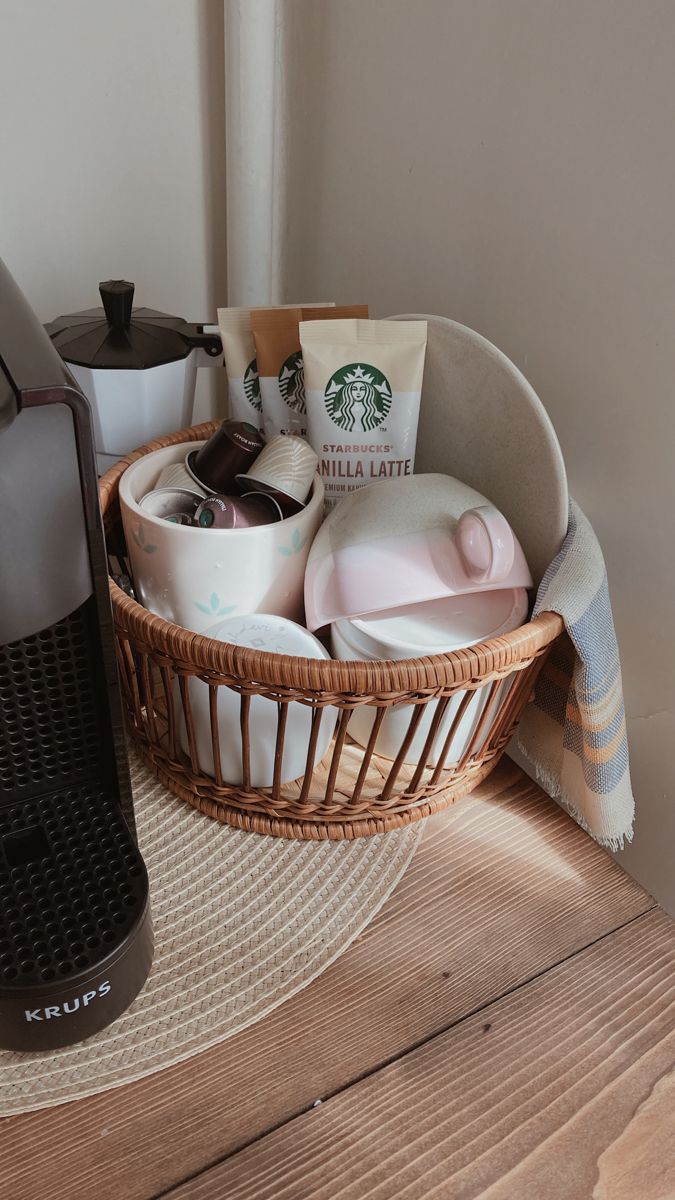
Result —
[[108, 784], [100, 656], [94, 596], [0, 646], [0, 1037], [11, 1049], [96, 1032], [150, 966], [148, 876]]

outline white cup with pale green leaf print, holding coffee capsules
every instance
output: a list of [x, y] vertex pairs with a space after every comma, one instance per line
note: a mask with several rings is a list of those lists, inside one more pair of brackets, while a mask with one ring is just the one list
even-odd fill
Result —
[[150, 612], [203, 634], [219, 617], [268, 612], [304, 618], [305, 564], [323, 515], [315, 476], [300, 512], [250, 529], [172, 524], [139, 506], [160, 472], [202, 442], [155, 450], [120, 479], [120, 510], [138, 599]]

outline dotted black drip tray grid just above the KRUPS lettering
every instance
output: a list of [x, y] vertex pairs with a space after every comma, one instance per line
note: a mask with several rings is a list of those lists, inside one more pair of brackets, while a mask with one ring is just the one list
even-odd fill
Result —
[[36, 989], [54, 996], [71, 977], [98, 974], [107, 950], [133, 936], [145, 870], [117, 797], [88, 786], [0, 808], [0, 847], [2, 990], [30, 989], [35, 1008]]

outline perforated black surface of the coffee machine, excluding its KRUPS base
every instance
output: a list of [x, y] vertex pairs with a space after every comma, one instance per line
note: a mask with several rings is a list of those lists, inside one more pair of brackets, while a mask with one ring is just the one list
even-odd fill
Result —
[[67, 983], [129, 936], [145, 870], [106, 786], [91, 596], [0, 646], [0, 980]]

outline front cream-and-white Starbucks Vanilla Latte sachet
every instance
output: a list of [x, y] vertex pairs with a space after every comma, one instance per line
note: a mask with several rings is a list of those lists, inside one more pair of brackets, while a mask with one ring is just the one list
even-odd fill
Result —
[[304, 320], [300, 346], [327, 506], [376, 479], [412, 475], [426, 322]]

